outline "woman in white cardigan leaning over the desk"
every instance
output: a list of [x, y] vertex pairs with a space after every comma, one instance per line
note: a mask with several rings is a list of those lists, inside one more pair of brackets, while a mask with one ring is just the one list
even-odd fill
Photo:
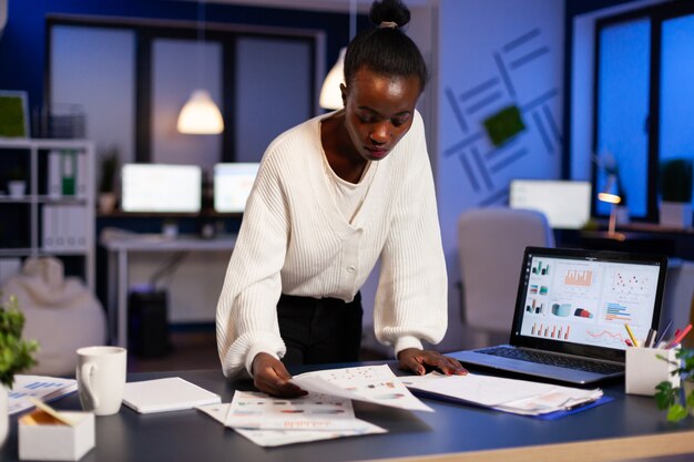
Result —
[[224, 373], [302, 394], [286, 363], [358, 360], [359, 288], [380, 257], [377, 339], [399, 365], [465, 373], [422, 349], [447, 326], [447, 276], [421, 116], [427, 82], [399, 0], [374, 2], [376, 29], [347, 49], [345, 109], [278, 136], [263, 156], [217, 306]]

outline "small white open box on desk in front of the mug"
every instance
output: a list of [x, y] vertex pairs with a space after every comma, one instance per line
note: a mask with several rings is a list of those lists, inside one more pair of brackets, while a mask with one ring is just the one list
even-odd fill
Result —
[[[29, 414], [31, 415], [31, 414]], [[92, 412], [61, 411], [75, 422], [29, 423], [19, 419], [19, 459], [34, 461], [78, 461], [94, 448], [94, 414]]]

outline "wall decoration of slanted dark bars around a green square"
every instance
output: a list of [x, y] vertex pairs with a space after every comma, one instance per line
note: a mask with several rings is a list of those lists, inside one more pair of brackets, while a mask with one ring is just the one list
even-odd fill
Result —
[[445, 89], [460, 137], [442, 154], [460, 161], [477, 206], [508, 202], [509, 172], [530, 152], [538, 154], [538, 140], [543, 155], [560, 152], [560, 122], [552, 113], [560, 91], [533, 74], [551, 51], [544, 40], [540, 28], [511, 38], [491, 51], [496, 74], [462, 90]]

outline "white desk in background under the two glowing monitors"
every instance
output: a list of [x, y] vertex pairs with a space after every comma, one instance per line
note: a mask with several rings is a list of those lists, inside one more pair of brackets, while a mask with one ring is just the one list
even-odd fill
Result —
[[127, 254], [162, 251], [233, 250], [236, 235], [212, 239], [197, 236], [165, 237], [155, 234], [118, 233], [101, 238], [109, 251], [108, 315], [111, 345], [127, 346]]

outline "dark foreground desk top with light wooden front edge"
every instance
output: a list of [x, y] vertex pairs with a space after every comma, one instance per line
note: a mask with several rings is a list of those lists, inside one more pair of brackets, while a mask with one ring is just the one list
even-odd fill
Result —
[[[227, 382], [221, 370], [135, 373], [129, 376], [129, 381], [169, 376], [220, 393], [223, 402], [231, 401], [235, 389], [252, 389], [249, 381]], [[96, 418], [96, 446], [81, 461], [312, 462], [407, 458], [438, 462], [589, 462], [694, 453], [694, 419], [672, 424], [651, 398], [625, 396], [622, 384], [605, 387], [604, 391], [614, 401], [555, 421], [435, 400], [427, 400], [433, 413], [355, 402], [359, 418], [388, 429], [388, 433], [273, 449], [255, 445], [196, 410], [137, 414], [123, 407], [115, 415]], [[76, 394], [53, 405], [80, 409]], [[10, 419], [10, 434], [0, 454], [8, 461], [18, 458], [17, 417]]]

